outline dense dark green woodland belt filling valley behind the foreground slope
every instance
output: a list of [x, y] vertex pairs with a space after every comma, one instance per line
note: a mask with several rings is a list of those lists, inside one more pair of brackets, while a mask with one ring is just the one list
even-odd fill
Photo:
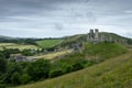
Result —
[[[70, 58], [69, 58], [70, 59]], [[73, 63], [67, 61], [51, 61], [38, 59], [36, 62], [8, 62], [6, 56], [0, 53], [0, 84], [4, 86], [16, 86], [28, 82], [33, 82], [42, 79], [53, 78], [84, 68], [86, 65], [91, 66], [94, 62], [76, 58]]]

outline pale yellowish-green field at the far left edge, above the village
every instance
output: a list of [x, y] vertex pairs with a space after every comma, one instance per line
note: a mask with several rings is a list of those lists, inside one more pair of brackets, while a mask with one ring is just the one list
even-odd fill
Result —
[[22, 50], [37, 50], [37, 46], [15, 43], [0, 43], [0, 51], [2, 51], [3, 48], [19, 48], [20, 51], [22, 51]]

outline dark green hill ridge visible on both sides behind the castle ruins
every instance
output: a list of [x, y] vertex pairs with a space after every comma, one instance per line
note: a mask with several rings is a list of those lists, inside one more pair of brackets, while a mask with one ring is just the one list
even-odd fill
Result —
[[[105, 35], [107, 41], [117, 42], [123, 44], [125, 46], [131, 46], [132, 38], [123, 37], [121, 35], [108, 32], [100, 32], [99, 35]], [[64, 41], [59, 44], [61, 46], [72, 47], [75, 43], [84, 43], [87, 42], [87, 34], [78, 34], [73, 36], [64, 37]]]

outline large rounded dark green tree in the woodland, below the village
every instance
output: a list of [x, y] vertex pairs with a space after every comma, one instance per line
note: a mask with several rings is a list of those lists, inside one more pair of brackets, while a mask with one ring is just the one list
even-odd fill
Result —
[[25, 68], [25, 73], [32, 77], [32, 80], [47, 78], [51, 68], [50, 61], [38, 59]]

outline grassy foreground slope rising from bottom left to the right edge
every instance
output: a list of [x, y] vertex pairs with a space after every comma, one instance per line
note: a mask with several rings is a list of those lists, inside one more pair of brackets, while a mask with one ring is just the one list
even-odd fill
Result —
[[57, 78], [16, 88], [131, 88], [132, 52]]

